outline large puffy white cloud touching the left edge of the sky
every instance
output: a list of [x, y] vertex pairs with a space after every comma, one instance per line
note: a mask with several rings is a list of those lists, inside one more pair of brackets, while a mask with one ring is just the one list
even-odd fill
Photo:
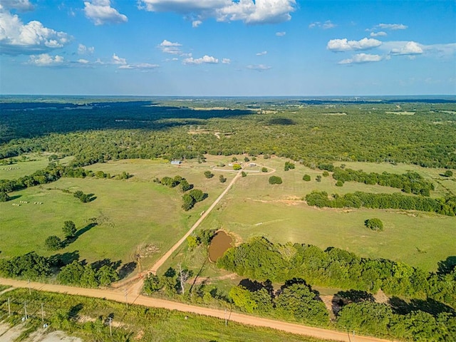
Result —
[[71, 37], [65, 32], [44, 27], [40, 21], [23, 24], [19, 16], [0, 6], [0, 53], [17, 55], [39, 53], [62, 48]]

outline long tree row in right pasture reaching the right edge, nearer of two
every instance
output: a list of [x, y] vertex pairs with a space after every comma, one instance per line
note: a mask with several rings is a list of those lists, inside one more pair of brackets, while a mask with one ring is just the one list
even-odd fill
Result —
[[437, 214], [455, 216], [456, 196], [445, 198], [416, 197], [401, 194], [372, 194], [357, 191], [346, 195], [333, 194], [314, 190], [306, 195], [306, 202], [311, 206], [330, 208], [371, 208], [371, 209], [406, 209], [422, 212], [437, 212]]

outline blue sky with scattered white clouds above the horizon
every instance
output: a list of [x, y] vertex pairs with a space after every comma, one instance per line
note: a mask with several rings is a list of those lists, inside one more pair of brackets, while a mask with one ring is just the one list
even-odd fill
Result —
[[0, 6], [1, 94], [456, 94], [453, 0]]

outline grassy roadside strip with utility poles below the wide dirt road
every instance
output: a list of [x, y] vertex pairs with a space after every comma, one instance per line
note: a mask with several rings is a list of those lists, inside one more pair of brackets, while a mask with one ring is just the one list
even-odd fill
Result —
[[[307, 336], [293, 335], [270, 328], [245, 326], [208, 316], [168, 311], [165, 309], [146, 308], [103, 299], [90, 299], [81, 296], [51, 294], [48, 292], [19, 289], [7, 295], [11, 301], [13, 315], [8, 321], [14, 324], [21, 322], [24, 314], [24, 301], [27, 303], [29, 320], [28, 333], [41, 327], [41, 304], [44, 307], [44, 320], [52, 322], [50, 331], [61, 329], [80, 336], [83, 341], [290, 341], [318, 342], [323, 341]], [[0, 296], [0, 319], [8, 316], [6, 295]], [[113, 318], [113, 336], [109, 326], [103, 323]], [[90, 324], [88, 322], [100, 322]], [[86, 323], [84, 323], [86, 322]]]

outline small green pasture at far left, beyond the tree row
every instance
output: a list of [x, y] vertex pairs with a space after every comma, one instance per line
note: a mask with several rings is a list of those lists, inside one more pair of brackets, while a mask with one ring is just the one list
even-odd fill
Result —
[[[19, 177], [31, 175], [33, 172], [43, 170], [49, 164], [51, 153], [28, 153], [21, 157], [14, 157], [16, 160], [11, 165], [0, 165], [0, 180], [16, 180]], [[64, 157], [58, 162], [66, 165], [73, 157]], [[6, 160], [9, 160], [6, 159]]]

